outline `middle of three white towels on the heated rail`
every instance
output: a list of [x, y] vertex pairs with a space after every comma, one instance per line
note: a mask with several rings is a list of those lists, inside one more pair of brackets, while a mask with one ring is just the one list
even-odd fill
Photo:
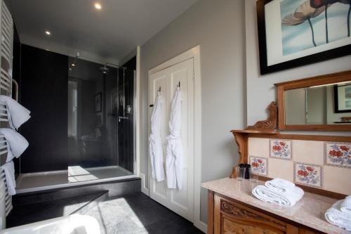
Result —
[[13, 129], [0, 129], [0, 134], [4, 135], [8, 143], [6, 162], [13, 160], [13, 157], [20, 157], [29, 145], [28, 141]]

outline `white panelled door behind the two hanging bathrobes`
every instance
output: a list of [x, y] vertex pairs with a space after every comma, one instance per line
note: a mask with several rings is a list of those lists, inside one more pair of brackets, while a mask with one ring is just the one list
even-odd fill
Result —
[[[164, 103], [162, 105], [161, 138], [164, 149], [164, 165], [166, 165], [166, 136], [169, 134], [168, 121], [171, 112], [171, 101], [180, 84], [183, 96], [182, 122], [180, 129], [183, 143], [183, 190], [169, 189], [166, 180], [157, 182], [150, 178], [150, 197], [173, 210], [185, 219], [193, 221], [194, 213], [194, 59], [185, 60], [164, 70], [151, 74], [149, 80], [150, 104], [157, 97], [157, 90], [161, 88]], [[152, 107], [149, 110], [149, 122]], [[150, 134], [150, 128], [149, 128]], [[164, 169], [166, 167], [164, 166]], [[149, 157], [149, 171], [151, 171]]]

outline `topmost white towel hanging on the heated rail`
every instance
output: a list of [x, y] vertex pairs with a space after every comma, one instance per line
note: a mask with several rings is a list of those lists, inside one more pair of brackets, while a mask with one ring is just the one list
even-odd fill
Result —
[[8, 122], [12, 129], [18, 129], [30, 118], [30, 111], [9, 96], [0, 95], [0, 100], [6, 103]]

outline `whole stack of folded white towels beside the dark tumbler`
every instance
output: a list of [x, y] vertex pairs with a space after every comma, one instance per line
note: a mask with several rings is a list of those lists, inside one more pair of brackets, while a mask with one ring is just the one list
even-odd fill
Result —
[[292, 207], [303, 197], [303, 190], [282, 178], [266, 181], [264, 186], [256, 186], [252, 194], [263, 202], [272, 202], [284, 207]]

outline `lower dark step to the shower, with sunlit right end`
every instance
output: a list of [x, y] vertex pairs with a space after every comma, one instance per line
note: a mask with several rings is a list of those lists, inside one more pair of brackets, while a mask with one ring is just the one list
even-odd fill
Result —
[[6, 218], [6, 227], [25, 225], [69, 214], [85, 214], [98, 202], [107, 200], [108, 191], [66, 197], [32, 204], [13, 204], [13, 210]]

